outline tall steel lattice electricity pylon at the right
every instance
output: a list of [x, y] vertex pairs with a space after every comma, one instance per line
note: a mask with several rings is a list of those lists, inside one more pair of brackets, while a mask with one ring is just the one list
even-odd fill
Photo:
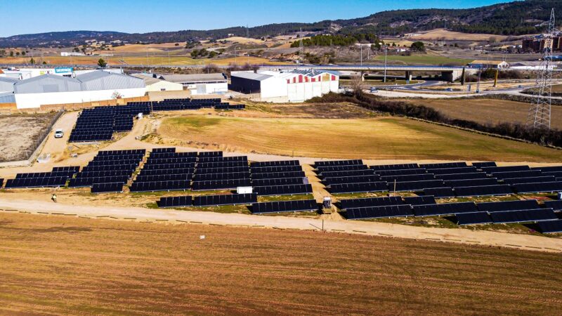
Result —
[[544, 36], [542, 60], [537, 75], [537, 97], [529, 107], [527, 126], [534, 129], [550, 129], [550, 113], [552, 105], [552, 48], [554, 42], [554, 8], [550, 13], [548, 33]]

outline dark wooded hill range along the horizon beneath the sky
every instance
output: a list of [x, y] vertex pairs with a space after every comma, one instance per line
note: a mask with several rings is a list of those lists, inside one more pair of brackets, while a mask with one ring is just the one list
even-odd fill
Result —
[[[561, 0], [514, 1], [469, 9], [412, 9], [374, 13], [365, 18], [324, 20], [314, 23], [280, 23], [251, 27], [250, 37], [268, 37], [281, 34], [322, 32], [354, 34], [358, 32], [397, 35], [410, 32], [446, 28], [465, 33], [501, 35], [534, 34], [544, 30], [541, 22], [548, 20], [551, 8], [562, 17]], [[558, 19], [562, 20], [561, 19]], [[561, 25], [558, 22], [558, 25]], [[150, 32], [127, 34], [121, 32], [70, 31], [15, 35], [0, 38], [0, 47], [14, 46], [72, 46], [86, 39], [98, 41], [129, 41], [129, 43], [165, 43], [221, 39], [228, 34], [246, 36], [245, 27], [212, 30], [183, 30], [177, 32]]]

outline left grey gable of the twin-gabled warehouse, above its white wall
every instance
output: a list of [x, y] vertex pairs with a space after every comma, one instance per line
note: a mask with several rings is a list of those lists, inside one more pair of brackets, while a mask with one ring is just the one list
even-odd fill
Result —
[[30, 79], [20, 80], [14, 84], [15, 93], [44, 93], [81, 91], [78, 79], [44, 74]]

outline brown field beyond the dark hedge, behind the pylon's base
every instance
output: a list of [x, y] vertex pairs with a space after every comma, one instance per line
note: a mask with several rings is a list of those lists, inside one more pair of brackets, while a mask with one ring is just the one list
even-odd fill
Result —
[[[502, 122], [524, 124], [530, 106], [529, 103], [494, 99], [425, 99], [405, 101], [433, 107], [448, 117], [467, 119], [481, 124], [499, 124]], [[562, 107], [552, 107], [551, 124], [555, 129], [562, 129]]]

